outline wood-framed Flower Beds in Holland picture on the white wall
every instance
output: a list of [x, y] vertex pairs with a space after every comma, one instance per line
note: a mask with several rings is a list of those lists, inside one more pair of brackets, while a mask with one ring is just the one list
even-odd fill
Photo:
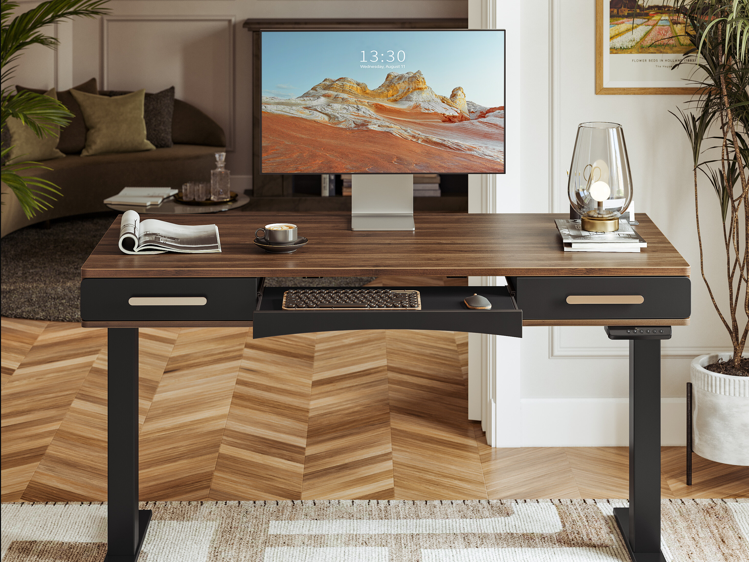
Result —
[[[694, 94], [692, 46], [679, 0], [596, 0], [596, 94]], [[651, 4], [650, 6], [648, 4]], [[696, 56], [686, 61], [695, 62]]]

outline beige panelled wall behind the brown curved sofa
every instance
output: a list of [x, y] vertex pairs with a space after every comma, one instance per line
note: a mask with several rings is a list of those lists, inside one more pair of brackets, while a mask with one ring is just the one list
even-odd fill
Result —
[[[22, 2], [27, 10], [37, 2]], [[467, 17], [467, 0], [113, 0], [112, 13], [55, 26], [58, 52], [34, 47], [14, 82], [70, 88], [96, 76], [100, 88], [159, 91], [215, 119], [226, 131], [228, 169], [251, 187], [252, 76], [245, 19], [261, 17]]]

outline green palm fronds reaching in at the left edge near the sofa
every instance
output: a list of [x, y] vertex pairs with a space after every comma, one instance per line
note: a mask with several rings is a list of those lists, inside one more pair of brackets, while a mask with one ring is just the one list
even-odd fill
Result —
[[[13, 17], [18, 3], [1, 0], [1, 34], [0, 37], [0, 129], [7, 126], [8, 118], [16, 118], [29, 127], [36, 136], [57, 136], [59, 127], [70, 123], [73, 114], [67, 111], [62, 103], [43, 94], [22, 91], [18, 94], [7, 88], [7, 82], [13, 76], [21, 51], [31, 45], [43, 45], [55, 49], [58, 40], [44, 34], [42, 29], [47, 25], [61, 22], [76, 16], [94, 17], [108, 10], [102, 6], [107, 0], [49, 0], [37, 7]], [[12, 139], [11, 139], [12, 142]], [[2, 149], [5, 160], [12, 145]], [[16, 158], [19, 160], [21, 157]], [[61, 195], [57, 186], [43, 178], [27, 175], [32, 169], [49, 169], [38, 162], [4, 163], [1, 168], [2, 183], [16, 194], [26, 217], [31, 218], [37, 211], [51, 207], [55, 195]]]

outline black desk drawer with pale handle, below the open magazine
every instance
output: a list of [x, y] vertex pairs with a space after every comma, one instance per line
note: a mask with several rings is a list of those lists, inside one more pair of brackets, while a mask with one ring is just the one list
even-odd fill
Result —
[[81, 318], [251, 321], [257, 291], [255, 277], [87, 278], [81, 282]]

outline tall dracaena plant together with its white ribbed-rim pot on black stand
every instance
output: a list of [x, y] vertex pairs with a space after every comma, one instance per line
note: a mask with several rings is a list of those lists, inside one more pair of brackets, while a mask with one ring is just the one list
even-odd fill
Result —
[[[673, 115], [691, 144], [700, 273], [733, 345], [733, 353], [701, 355], [691, 363], [691, 447], [706, 459], [749, 465], [749, 357], [744, 351], [749, 326], [742, 318], [749, 314], [749, 0], [683, 0], [679, 10], [694, 46], [685, 58], [697, 55], [696, 62], [679, 64], [694, 64], [696, 76], [701, 70], [704, 77], [694, 80], [700, 91], [688, 110]], [[697, 189], [701, 175], [720, 202], [726, 269], [707, 273], [726, 283], [727, 309], [718, 306], [705, 271]]]

